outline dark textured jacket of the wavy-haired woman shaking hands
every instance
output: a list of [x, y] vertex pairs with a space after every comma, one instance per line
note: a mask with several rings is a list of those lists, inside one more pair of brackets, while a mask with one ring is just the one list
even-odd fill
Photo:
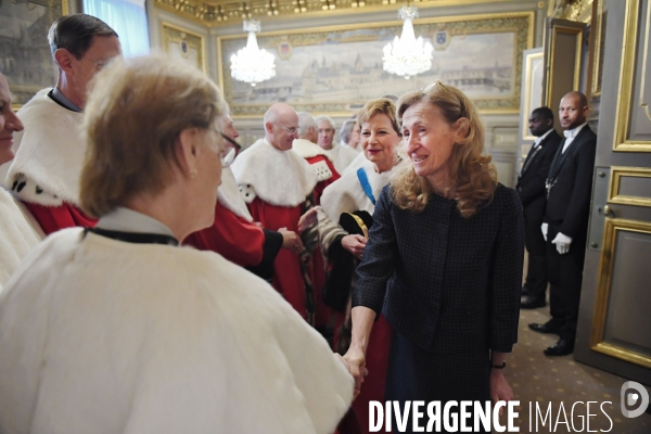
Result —
[[382, 311], [412, 344], [439, 353], [509, 353], [518, 341], [524, 229], [518, 193], [498, 184], [493, 202], [463, 218], [431, 194], [420, 214], [382, 190], [353, 306]]

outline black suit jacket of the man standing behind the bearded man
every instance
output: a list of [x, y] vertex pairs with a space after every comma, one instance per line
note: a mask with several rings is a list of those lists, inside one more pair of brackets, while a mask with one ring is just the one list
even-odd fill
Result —
[[520, 194], [520, 201], [522, 201], [522, 207], [527, 220], [542, 222], [545, 203], [547, 202], [545, 180], [547, 179], [551, 162], [561, 140], [563, 140], [561, 136], [556, 130], [551, 130], [537, 149], [534, 150], [532, 146], [522, 166], [522, 173], [518, 178], [515, 189]]

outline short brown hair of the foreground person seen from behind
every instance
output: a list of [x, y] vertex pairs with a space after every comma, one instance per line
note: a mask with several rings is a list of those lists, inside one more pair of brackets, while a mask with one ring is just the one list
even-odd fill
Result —
[[173, 166], [180, 167], [180, 132], [208, 129], [228, 113], [213, 81], [167, 55], [116, 59], [90, 89], [80, 201], [94, 217], [136, 194], [161, 192], [173, 179]]

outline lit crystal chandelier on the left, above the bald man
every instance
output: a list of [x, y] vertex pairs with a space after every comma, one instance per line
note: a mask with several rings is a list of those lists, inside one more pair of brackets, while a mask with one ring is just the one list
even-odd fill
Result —
[[238, 81], [255, 86], [273, 77], [276, 65], [273, 64], [273, 54], [258, 48], [255, 33], [260, 31], [260, 22], [244, 21], [244, 31], [248, 31], [246, 47], [239, 50], [238, 54], [231, 55], [231, 76]]

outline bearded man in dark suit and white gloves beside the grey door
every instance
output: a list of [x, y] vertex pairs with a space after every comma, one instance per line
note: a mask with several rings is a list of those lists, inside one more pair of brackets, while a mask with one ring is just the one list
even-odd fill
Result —
[[583, 93], [573, 91], [561, 100], [559, 116], [565, 140], [547, 177], [541, 226], [547, 241], [551, 320], [529, 324], [534, 331], [560, 336], [545, 349], [547, 356], [565, 356], [574, 350], [597, 151], [597, 136], [586, 122], [587, 114]]

